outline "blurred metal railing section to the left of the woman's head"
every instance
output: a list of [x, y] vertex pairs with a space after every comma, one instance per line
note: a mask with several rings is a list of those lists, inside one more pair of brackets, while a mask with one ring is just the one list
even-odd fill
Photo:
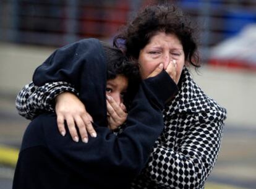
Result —
[[[139, 3], [139, 1], [138, 1]], [[129, 1], [0, 1], [0, 40], [59, 46], [109, 38], [126, 23]]]

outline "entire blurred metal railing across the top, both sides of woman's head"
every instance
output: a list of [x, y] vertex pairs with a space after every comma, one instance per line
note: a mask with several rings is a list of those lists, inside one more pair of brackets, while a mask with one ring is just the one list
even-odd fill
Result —
[[[0, 0], [0, 40], [61, 46], [80, 38], [111, 40], [143, 0]], [[163, 2], [163, 1], [161, 1]], [[254, 0], [171, 1], [200, 24], [201, 52], [256, 22]]]

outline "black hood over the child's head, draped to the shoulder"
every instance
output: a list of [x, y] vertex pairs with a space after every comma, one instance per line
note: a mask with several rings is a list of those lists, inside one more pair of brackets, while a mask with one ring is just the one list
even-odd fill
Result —
[[99, 40], [80, 40], [57, 49], [33, 74], [35, 85], [68, 82], [79, 92], [97, 125], [106, 119], [106, 58]]

